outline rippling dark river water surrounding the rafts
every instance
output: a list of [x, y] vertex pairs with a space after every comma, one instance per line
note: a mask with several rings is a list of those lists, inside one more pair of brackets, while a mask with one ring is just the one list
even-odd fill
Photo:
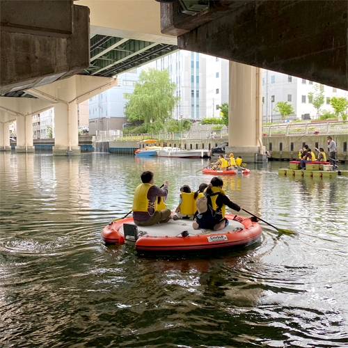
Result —
[[348, 177], [279, 177], [281, 161], [223, 177], [231, 200], [294, 232], [261, 223], [242, 250], [104, 245], [144, 170], [175, 209], [206, 164], [0, 152], [0, 347], [348, 347]]

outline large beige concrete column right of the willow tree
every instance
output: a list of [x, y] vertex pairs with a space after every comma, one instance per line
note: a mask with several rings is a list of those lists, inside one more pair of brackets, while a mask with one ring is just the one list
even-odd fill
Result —
[[265, 161], [262, 145], [261, 69], [230, 61], [228, 147], [243, 161]]

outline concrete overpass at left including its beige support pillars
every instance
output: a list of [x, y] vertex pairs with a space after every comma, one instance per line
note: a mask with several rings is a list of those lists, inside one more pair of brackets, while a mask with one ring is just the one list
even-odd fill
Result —
[[177, 38], [160, 31], [155, 1], [75, 3], [0, 1], [0, 149], [10, 149], [8, 125], [17, 120], [16, 151], [33, 151], [31, 116], [54, 105], [54, 154], [79, 155], [77, 104], [177, 50]]

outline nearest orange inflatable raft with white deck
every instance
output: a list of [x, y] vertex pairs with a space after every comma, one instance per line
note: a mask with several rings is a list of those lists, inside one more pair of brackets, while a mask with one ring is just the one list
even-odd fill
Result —
[[154, 226], [136, 226], [133, 218], [111, 222], [102, 230], [106, 244], [132, 244], [140, 253], [170, 251], [208, 251], [244, 247], [261, 237], [260, 225], [245, 218], [226, 214], [229, 225], [223, 230], [193, 230], [193, 220], [170, 220]]

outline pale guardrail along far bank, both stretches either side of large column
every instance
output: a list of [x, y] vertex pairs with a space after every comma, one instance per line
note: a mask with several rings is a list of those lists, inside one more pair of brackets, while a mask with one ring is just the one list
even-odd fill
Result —
[[[348, 134], [348, 121], [331, 122], [292, 122], [283, 125], [262, 126], [262, 136], [293, 136], [313, 134]], [[228, 137], [228, 128], [211, 130], [190, 130], [182, 132], [160, 132], [145, 134], [117, 134], [98, 132], [93, 141], [143, 141], [156, 139], [158, 141], [170, 141], [177, 139], [222, 139]]]

